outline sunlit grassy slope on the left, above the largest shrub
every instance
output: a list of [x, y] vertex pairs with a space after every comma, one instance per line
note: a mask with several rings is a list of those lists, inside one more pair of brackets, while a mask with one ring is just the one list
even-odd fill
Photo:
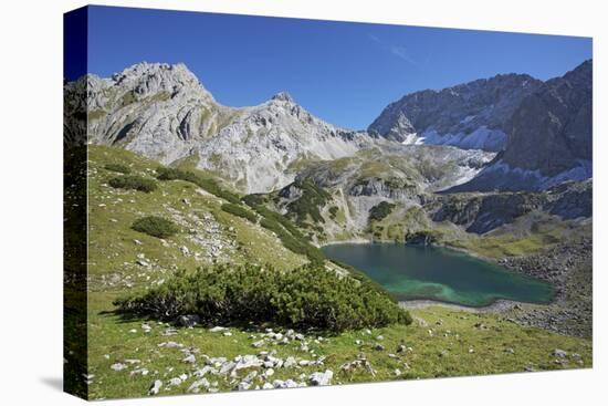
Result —
[[[219, 238], [226, 241], [224, 247], [235, 240], [237, 247], [226, 250], [235, 262], [272, 262], [283, 268], [295, 268], [304, 263], [302, 257], [283, 249], [279, 240], [262, 227], [252, 226], [245, 219], [222, 211], [220, 207], [223, 200], [192, 184], [181, 180], [163, 181], [150, 194], [118, 190], [106, 185], [108, 178], [116, 176], [104, 169], [106, 163], [124, 163], [133, 173], [153, 177], [151, 170], [157, 164], [150, 160], [107, 147], [92, 147], [90, 160], [90, 275], [94, 278], [115, 271], [125, 277], [130, 275], [137, 282], [140, 279], [137, 277], [140, 267], [135, 261], [137, 254], [141, 253], [158, 270], [205, 264], [205, 261], [197, 261], [193, 254], [185, 257], [180, 250], [181, 247], [187, 247], [190, 253], [200, 252], [201, 257], [206, 257], [205, 247], [197, 243], [199, 238]], [[172, 219], [181, 226], [182, 232], [163, 243], [155, 237], [130, 229], [134, 220], [149, 215]], [[197, 228], [200, 226], [197, 221], [203, 221], [208, 227]], [[209, 226], [216, 226], [218, 230], [209, 232]], [[190, 232], [195, 229], [197, 235]], [[146, 280], [148, 275], [149, 272], [145, 275]]]

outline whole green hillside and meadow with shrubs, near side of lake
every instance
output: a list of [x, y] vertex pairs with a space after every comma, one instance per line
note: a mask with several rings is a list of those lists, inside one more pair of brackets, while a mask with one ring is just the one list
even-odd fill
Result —
[[[175, 395], [315, 385], [315, 374], [326, 371], [332, 372], [331, 384], [340, 384], [562, 369], [593, 363], [590, 340], [524, 327], [510, 321], [509, 314], [412, 309], [412, 324], [407, 325], [407, 319], [399, 323], [398, 314], [405, 313], [376, 295], [367, 277], [323, 257], [310, 264], [315, 262], [310, 258], [314, 253], [290, 249], [285, 241], [293, 239], [295, 250], [318, 251], [293, 222], [272, 210], [268, 197], [238, 196], [234, 202], [216, 195], [212, 186], [206, 189], [210, 184], [181, 176], [158, 179], [157, 189], [149, 192], [116, 189], [108, 180], [117, 174], [106, 169], [107, 164], [153, 180], [159, 175], [158, 164], [101, 146], [90, 147], [88, 159], [90, 398], [146, 396], [157, 381], [161, 383], [158, 395]], [[205, 173], [192, 174], [209, 178]], [[216, 185], [223, 189], [220, 183]], [[170, 220], [179, 231], [159, 238], [133, 229], [136, 220], [149, 216]], [[273, 273], [264, 283], [253, 283], [259, 281], [253, 272], [268, 269], [268, 263]], [[197, 268], [203, 271], [197, 273]], [[235, 272], [233, 278], [227, 278], [230, 272]], [[287, 277], [292, 291], [275, 290], [281, 284], [279, 272]], [[344, 288], [339, 275], [348, 278]], [[207, 285], [210, 278], [218, 284]], [[327, 281], [317, 284], [317, 278]], [[199, 283], [200, 290], [190, 282]], [[213, 285], [222, 287], [219, 293]], [[146, 292], [182, 298], [188, 306], [171, 316], [119, 312], [122, 303], [146, 303]], [[291, 299], [284, 300], [295, 299], [295, 306], [283, 306], [281, 316], [268, 316], [277, 308], [265, 292], [276, 300], [286, 293]], [[218, 294], [223, 298], [218, 303], [230, 305], [222, 304], [223, 313], [209, 317], [192, 294]], [[125, 298], [129, 300], [124, 302]], [[332, 298], [337, 306], [327, 306]], [[373, 298], [379, 298], [377, 304], [368, 304]], [[252, 300], [260, 305], [251, 305]], [[339, 309], [337, 317], [332, 314], [334, 308]], [[230, 323], [240, 317], [238, 313], [256, 309], [260, 312], [245, 317], [247, 323]], [[172, 315], [182, 311], [199, 315], [199, 323], [192, 329], [180, 324]], [[231, 315], [231, 311], [237, 313]], [[311, 325], [317, 329], [310, 330]], [[77, 343], [72, 345], [66, 348], [69, 363], [75, 356], [69, 352], [78, 351]]]

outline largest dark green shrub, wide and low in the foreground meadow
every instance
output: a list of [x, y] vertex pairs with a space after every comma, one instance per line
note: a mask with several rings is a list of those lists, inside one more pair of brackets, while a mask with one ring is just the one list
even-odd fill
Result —
[[115, 304], [120, 312], [163, 321], [197, 314], [213, 324], [269, 322], [335, 333], [411, 323], [385, 292], [312, 264], [286, 272], [251, 264], [179, 271]]

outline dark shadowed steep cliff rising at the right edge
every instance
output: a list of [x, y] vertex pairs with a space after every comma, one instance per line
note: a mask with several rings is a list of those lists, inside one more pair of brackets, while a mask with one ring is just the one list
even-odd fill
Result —
[[504, 152], [453, 191], [543, 190], [593, 176], [593, 65], [586, 61], [522, 101]]

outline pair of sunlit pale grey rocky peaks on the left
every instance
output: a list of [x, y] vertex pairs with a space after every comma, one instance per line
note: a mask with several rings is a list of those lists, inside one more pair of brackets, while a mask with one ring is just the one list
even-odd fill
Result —
[[227, 107], [182, 64], [140, 63], [87, 75], [88, 140], [171, 164], [191, 158], [247, 192], [293, 180], [290, 167], [335, 159], [373, 144], [364, 132], [327, 124], [287, 93], [252, 107]]

